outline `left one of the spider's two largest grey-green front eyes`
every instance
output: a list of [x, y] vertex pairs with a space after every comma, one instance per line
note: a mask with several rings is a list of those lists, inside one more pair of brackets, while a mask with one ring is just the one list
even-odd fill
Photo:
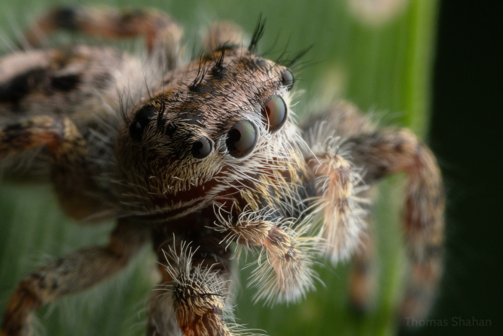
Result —
[[227, 133], [227, 149], [230, 155], [240, 158], [257, 145], [257, 128], [248, 120], [237, 121]]

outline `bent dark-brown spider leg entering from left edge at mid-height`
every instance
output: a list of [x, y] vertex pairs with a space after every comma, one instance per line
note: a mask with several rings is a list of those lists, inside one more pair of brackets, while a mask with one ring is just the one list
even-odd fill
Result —
[[52, 179], [69, 216], [85, 219], [109, 209], [95, 193], [86, 142], [68, 117], [37, 116], [0, 128], [0, 160], [42, 146], [50, 151]]

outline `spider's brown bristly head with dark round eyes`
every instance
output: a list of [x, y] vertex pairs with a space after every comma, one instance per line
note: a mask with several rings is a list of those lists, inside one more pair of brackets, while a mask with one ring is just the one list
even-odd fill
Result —
[[129, 193], [149, 214], [180, 217], [288, 155], [292, 84], [283, 66], [225, 47], [170, 73], [120, 132]]

